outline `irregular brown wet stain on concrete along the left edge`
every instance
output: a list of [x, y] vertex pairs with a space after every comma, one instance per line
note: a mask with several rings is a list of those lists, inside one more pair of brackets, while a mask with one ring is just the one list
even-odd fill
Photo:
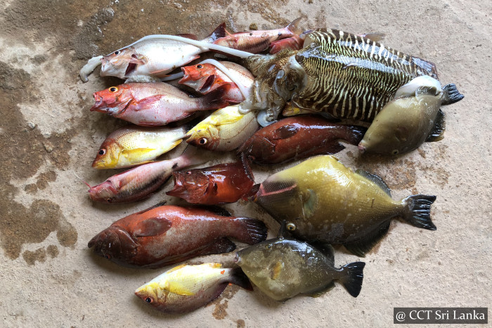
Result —
[[[30, 207], [15, 202], [18, 186], [9, 181], [34, 176], [42, 165], [63, 169], [68, 166], [67, 152], [72, 148], [68, 140], [75, 136], [75, 129], [63, 133], [53, 133], [44, 137], [33, 124], [26, 122], [18, 108], [19, 103], [38, 103], [39, 92], [34, 87], [32, 77], [24, 70], [17, 70], [7, 63], [0, 62], [0, 152], [4, 161], [0, 166], [0, 188], [4, 191], [0, 198], [1, 247], [6, 256], [18, 258], [23, 244], [39, 243], [51, 232], [57, 232], [58, 242], [71, 247], [77, 242], [77, 230], [63, 216], [60, 206], [50, 200], [37, 199]], [[46, 144], [53, 145], [46, 149]], [[50, 170], [41, 173], [35, 185], [27, 186], [27, 192], [43, 190], [56, 173]], [[47, 254], [58, 254], [47, 250]], [[34, 263], [44, 261], [46, 251], [37, 250], [25, 253], [25, 261]]]

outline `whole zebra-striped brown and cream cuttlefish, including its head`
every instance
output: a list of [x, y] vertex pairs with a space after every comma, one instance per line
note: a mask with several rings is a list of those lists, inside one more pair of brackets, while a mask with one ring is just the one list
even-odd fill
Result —
[[336, 29], [306, 34], [299, 51], [252, 55], [244, 63], [256, 79], [241, 111], [266, 110], [270, 121], [292, 100], [304, 110], [371, 122], [403, 84], [437, 78], [432, 63]]

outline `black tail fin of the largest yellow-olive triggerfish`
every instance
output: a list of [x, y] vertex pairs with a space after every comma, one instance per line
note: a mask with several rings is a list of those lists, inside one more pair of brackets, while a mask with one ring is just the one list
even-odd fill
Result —
[[411, 195], [403, 199], [406, 203], [403, 219], [417, 228], [436, 230], [430, 218], [430, 207], [436, 196]]

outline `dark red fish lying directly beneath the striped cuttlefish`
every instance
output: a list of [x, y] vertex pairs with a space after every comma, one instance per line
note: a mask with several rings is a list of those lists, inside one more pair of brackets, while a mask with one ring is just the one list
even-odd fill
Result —
[[363, 126], [330, 123], [321, 117], [288, 117], [254, 133], [238, 153], [257, 164], [278, 164], [314, 155], [332, 155], [345, 148], [338, 140], [358, 145], [366, 130]]

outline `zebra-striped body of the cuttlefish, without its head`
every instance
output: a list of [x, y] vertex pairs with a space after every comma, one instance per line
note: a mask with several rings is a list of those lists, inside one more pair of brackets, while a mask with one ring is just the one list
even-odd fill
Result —
[[302, 108], [370, 122], [403, 84], [437, 78], [434, 65], [354, 34], [318, 29], [307, 38], [311, 44], [295, 55], [308, 75], [292, 98]]

